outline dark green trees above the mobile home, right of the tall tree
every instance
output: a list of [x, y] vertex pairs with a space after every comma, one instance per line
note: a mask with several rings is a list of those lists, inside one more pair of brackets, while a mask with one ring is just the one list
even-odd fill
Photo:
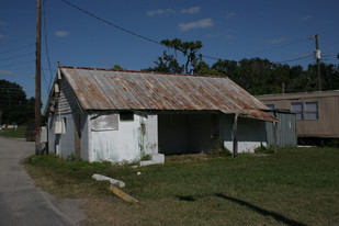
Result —
[[[323, 90], [339, 89], [338, 66], [321, 64]], [[218, 60], [213, 70], [224, 74], [251, 94], [309, 92], [318, 90], [316, 65], [305, 70], [302, 66], [274, 64], [268, 59], [251, 58], [239, 63]]]

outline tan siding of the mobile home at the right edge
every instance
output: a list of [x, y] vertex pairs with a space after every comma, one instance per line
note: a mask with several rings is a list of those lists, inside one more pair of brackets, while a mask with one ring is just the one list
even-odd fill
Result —
[[298, 120], [298, 137], [339, 137], [339, 91], [257, 97], [275, 109], [291, 110], [291, 103], [317, 102], [318, 120]]

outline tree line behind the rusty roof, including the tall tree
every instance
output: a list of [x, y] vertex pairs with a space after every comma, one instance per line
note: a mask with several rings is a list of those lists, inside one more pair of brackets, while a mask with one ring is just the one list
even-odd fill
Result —
[[[181, 53], [184, 63], [180, 64], [174, 55], [163, 52], [158, 57], [154, 67], [144, 71], [170, 72], [170, 74], [197, 74], [212, 76], [227, 76], [249, 93], [274, 94], [309, 92], [318, 90], [317, 65], [290, 66], [276, 64], [268, 59], [250, 58], [235, 60], [218, 59], [212, 66], [203, 60], [199, 50], [203, 47], [200, 41], [182, 42], [178, 38], [163, 39], [161, 44], [172, 48], [174, 54]], [[339, 89], [339, 65], [320, 64], [321, 90]]]

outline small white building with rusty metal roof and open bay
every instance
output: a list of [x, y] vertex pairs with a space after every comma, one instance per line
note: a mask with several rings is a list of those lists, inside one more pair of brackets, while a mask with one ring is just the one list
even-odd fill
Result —
[[59, 67], [46, 106], [48, 148], [89, 161], [267, 145], [268, 108], [227, 77]]

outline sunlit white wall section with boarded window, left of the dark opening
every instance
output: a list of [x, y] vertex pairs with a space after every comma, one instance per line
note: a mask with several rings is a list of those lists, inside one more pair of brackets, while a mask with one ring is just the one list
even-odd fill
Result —
[[[89, 115], [89, 161], [134, 161], [139, 160], [144, 154], [158, 152], [157, 115], [146, 117], [134, 114], [133, 121], [118, 120], [117, 129], [103, 131], [91, 128], [93, 116]], [[146, 126], [144, 136], [142, 124]]]

